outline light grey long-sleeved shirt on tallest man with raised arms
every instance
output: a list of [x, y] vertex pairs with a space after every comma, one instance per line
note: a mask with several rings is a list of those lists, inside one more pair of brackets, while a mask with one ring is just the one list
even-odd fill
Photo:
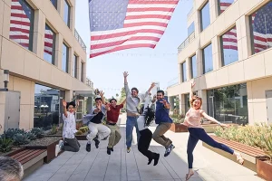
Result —
[[148, 95], [149, 92], [145, 92], [145, 94], [140, 94], [140, 96], [138, 97], [132, 97], [131, 96], [131, 90], [129, 88], [129, 85], [127, 83], [124, 84], [124, 89], [126, 92], [126, 108], [127, 108], [127, 112], [131, 112], [134, 114], [139, 113], [139, 104], [141, 103], [142, 100], [144, 100]]

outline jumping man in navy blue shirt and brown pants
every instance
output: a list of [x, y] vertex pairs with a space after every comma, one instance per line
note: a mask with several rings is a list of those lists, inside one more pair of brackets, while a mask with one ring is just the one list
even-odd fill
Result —
[[164, 91], [157, 91], [157, 101], [156, 101], [156, 112], [155, 112], [155, 122], [159, 124], [153, 133], [152, 138], [165, 147], [164, 157], [169, 156], [171, 150], [175, 148], [172, 144], [170, 138], [165, 138], [164, 133], [166, 133], [173, 122], [169, 116], [170, 104], [164, 99]]

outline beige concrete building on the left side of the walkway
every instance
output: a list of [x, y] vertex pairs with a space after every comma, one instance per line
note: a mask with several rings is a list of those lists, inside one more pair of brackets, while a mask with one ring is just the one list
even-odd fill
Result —
[[0, 133], [18, 121], [49, 129], [62, 121], [63, 99], [81, 99], [82, 118], [93, 84], [74, 17], [75, 0], [0, 0]]

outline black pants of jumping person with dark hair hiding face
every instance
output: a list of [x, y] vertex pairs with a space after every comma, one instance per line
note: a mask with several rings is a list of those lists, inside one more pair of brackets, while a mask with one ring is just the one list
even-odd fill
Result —
[[150, 129], [143, 129], [140, 131], [140, 138], [138, 142], [138, 150], [142, 155], [148, 157], [149, 159], [153, 159], [156, 153], [153, 153], [149, 150], [152, 139], [152, 132]]

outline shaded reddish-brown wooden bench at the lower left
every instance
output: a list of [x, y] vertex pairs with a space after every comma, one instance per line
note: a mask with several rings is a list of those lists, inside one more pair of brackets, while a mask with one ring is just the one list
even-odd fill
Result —
[[46, 156], [46, 149], [24, 149], [11, 157], [23, 165], [24, 177], [26, 177], [33, 173], [35, 169], [44, 165], [44, 157]]

